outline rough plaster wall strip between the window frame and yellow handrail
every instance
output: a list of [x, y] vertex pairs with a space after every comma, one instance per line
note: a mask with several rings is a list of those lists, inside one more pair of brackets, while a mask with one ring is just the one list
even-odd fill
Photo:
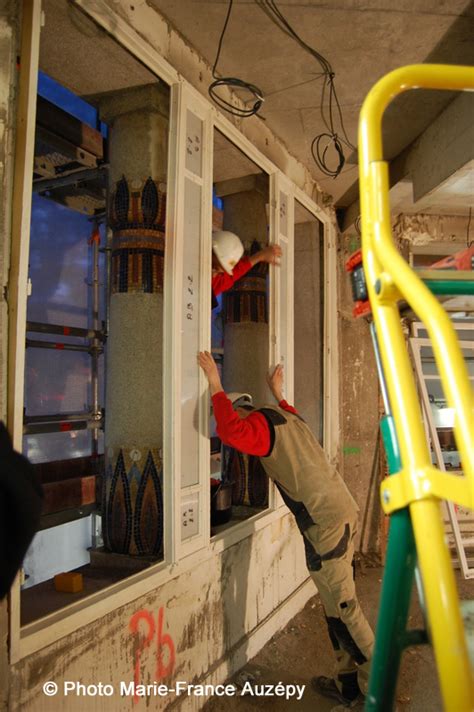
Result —
[[369, 324], [365, 319], [354, 319], [352, 316], [350, 279], [344, 269], [349, 255], [358, 249], [360, 241], [354, 235], [339, 239], [342, 472], [360, 508], [357, 544], [363, 551], [376, 551], [379, 546], [380, 503], [378, 480], [374, 477], [371, 483], [371, 473], [379, 432], [378, 380]]

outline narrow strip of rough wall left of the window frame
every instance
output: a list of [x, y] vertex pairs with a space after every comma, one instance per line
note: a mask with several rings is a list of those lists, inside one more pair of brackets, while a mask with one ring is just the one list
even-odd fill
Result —
[[[14, 67], [17, 42], [15, 0], [0, 3], [0, 419], [7, 410], [8, 309], [4, 289], [8, 279], [10, 255], [10, 198], [12, 181], [13, 122], [15, 88]], [[0, 710], [7, 709], [8, 680], [8, 605], [0, 602]]]

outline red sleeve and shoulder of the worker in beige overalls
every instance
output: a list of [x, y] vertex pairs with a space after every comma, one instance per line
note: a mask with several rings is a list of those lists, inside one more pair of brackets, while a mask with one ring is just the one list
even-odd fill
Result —
[[224, 391], [212, 396], [217, 434], [225, 445], [248, 455], [265, 457], [270, 450], [270, 428], [258, 411], [241, 418]]

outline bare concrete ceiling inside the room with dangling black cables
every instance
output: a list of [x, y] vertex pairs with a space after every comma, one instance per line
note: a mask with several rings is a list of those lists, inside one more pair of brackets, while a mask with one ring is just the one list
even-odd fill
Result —
[[[228, 0], [149, 1], [212, 66]], [[346, 132], [354, 145], [361, 104], [381, 76], [419, 62], [474, 64], [473, 0], [281, 0], [277, 6], [304, 41], [330, 61]], [[262, 89], [265, 102], [259, 115], [310, 168], [338, 207], [357, 200], [354, 152], [345, 149], [347, 163], [336, 179], [323, 175], [311, 157], [313, 138], [325, 131], [319, 109], [320, 66], [254, 0], [234, 0], [217, 71]], [[424, 90], [399, 96], [384, 116], [385, 156], [393, 159], [410, 146], [454, 96]], [[464, 187], [456, 175], [453, 180], [457, 202], [448, 180], [444, 188], [449, 205], [443, 203], [443, 189], [431, 196], [430, 205], [441, 201], [440, 210], [465, 213], [472, 204], [472, 166]], [[398, 205], [418, 210], [408, 190]]]

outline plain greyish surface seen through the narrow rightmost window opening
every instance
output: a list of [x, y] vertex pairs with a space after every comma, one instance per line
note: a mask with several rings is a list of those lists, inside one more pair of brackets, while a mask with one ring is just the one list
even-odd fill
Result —
[[321, 438], [321, 254], [319, 222], [295, 225], [295, 407]]

